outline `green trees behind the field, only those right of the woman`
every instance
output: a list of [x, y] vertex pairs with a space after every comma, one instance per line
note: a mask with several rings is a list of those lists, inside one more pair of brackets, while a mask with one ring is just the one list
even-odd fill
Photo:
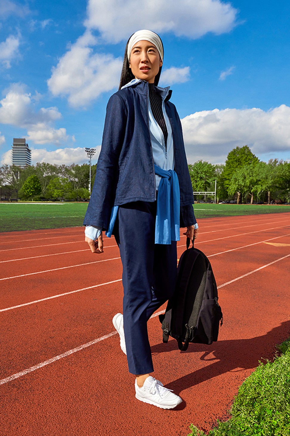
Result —
[[193, 191], [214, 191], [217, 181], [217, 202], [290, 202], [290, 163], [270, 159], [266, 164], [247, 145], [231, 150], [225, 164], [199, 160], [188, 167]]

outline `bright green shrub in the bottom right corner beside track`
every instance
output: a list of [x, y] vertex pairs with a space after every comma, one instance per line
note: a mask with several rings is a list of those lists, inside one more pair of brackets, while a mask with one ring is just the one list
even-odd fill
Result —
[[[231, 408], [232, 417], [217, 422], [209, 436], [290, 435], [290, 339], [277, 347], [282, 355], [260, 362], [243, 382]], [[191, 425], [188, 436], [206, 433]]]

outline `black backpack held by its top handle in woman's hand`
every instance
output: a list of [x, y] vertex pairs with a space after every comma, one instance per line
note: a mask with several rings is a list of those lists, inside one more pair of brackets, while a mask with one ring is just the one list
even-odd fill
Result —
[[[217, 341], [223, 313], [217, 302], [217, 284], [207, 256], [197, 248], [182, 253], [178, 262], [177, 286], [168, 300], [165, 314], [159, 315], [163, 342], [174, 337], [180, 350], [187, 350], [189, 342], [212, 344]], [[184, 342], [184, 344], [183, 344]]]

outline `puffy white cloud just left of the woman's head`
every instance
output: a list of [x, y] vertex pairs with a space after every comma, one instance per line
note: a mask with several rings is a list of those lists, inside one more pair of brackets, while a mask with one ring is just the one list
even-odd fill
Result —
[[93, 53], [96, 44], [90, 32], [81, 36], [60, 58], [47, 81], [53, 95], [68, 95], [73, 107], [86, 106], [102, 92], [116, 88], [122, 60], [111, 54]]

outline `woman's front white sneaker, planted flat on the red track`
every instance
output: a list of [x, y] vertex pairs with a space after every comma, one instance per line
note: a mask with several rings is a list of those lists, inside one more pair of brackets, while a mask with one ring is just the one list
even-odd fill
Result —
[[146, 378], [142, 388], [138, 387], [137, 380], [135, 380], [135, 391], [138, 400], [161, 409], [173, 409], [182, 402], [178, 395], [173, 394], [171, 389], [164, 388], [161, 381], [151, 375]]

